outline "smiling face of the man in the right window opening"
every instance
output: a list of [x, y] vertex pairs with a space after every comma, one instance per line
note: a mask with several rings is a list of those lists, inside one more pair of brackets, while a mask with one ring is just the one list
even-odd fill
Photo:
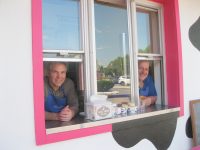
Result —
[[138, 66], [139, 80], [144, 81], [149, 74], [149, 62], [140, 61]]

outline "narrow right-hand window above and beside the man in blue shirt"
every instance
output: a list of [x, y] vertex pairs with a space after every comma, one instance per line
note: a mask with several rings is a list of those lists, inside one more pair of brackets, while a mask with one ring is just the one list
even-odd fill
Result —
[[153, 77], [156, 91], [157, 104], [167, 104], [164, 90], [164, 49], [161, 46], [162, 36], [159, 24], [159, 10], [148, 7], [137, 7], [137, 41], [138, 60], [150, 62], [149, 74]]

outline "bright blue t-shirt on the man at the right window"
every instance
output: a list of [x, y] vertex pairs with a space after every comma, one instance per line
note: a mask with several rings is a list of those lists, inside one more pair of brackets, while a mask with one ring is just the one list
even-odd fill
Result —
[[140, 96], [157, 96], [156, 88], [153, 79], [150, 75], [144, 80], [144, 86], [139, 88]]

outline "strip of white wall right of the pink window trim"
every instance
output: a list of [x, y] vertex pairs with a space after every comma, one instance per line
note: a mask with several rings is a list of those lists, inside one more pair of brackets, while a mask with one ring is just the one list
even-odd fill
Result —
[[178, 119], [176, 133], [170, 150], [189, 150], [192, 139], [185, 134], [185, 125], [189, 117], [189, 101], [200, 98], [200, 51], [189, 40], [189, 28], [200, 17], [200, 1], [179, 0], [184, 86], [184, 116]]

